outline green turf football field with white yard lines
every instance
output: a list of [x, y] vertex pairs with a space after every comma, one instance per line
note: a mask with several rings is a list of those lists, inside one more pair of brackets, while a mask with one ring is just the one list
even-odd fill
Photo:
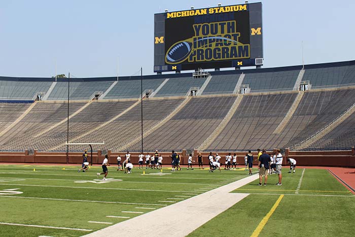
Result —
[[[85, 173], [78, 168], [0, 165], [0, 236], [82, 236], [248, 177], [242, 167], [214, 173], [134, 168], [124, 174], [109, 166], [102, 181], [96, 177], [100, 166]], [[282, 171], [282, 186], [270, 175], [267, 186], [255, 180], [235, 189], [250, 195], [188, 236], [353, 236], [355, 198], [348, 189], [327, 170]], [[219, 208], [219, 200], [211, 203]]]

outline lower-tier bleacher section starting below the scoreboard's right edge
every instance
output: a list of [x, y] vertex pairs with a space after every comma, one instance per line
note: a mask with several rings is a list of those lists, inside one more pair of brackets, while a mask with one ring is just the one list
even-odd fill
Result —
[[273, 149], [270, 134], [291, 108], [297, 93], [244, 95], [231, 120], [205, 150]]

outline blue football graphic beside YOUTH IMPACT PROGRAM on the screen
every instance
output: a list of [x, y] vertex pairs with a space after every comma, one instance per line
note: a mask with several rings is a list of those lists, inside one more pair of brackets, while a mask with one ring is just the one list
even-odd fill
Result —
[[184, 61], [190, 54], [192, 43], [187, 41], [180, 41], [173, 44], [165, 55], [167, 63], [180, 63]]

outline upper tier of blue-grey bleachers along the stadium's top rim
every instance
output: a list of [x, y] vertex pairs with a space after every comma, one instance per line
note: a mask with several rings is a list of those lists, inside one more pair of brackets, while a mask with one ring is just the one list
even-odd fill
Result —
[[[239, 84], [248, 85], [250, 92], [293, 90], [301, 66], [276, 67], [240, 71], [211, 72], [201, 94], [233, 94]], [[354, 83], [355, 61], [305, 65], [302, 81], [312, 88], [339, 87]], [[46, 100], [61, 100], [68, 96], [68, 79], [0, 77], [0, 99], [33, 99], [37, 94]], [[206, 78], [191, 74], [150, 75], [143, 77], [143, 91], [155, 91], [155, 97], [184, 96], [190, 88], [201, 88]], [[50, 87], [53, 85], [53, 89]], [[138, 98], [141, 94], [140, 76], [107, 78], [72, 78], [70, 99], [91, 99], [95, 93], [100, 99]], [[159, 88], [159, 89], [158, 89]], [[103, 95], [104, 94], [104, 95]]]

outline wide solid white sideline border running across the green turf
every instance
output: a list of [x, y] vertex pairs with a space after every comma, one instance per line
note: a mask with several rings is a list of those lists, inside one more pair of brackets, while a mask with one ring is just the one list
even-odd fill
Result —
[[[117, 223], [85, 236], [114, 237], [117, 236], [117, 233], [120, 233], [120, 236], [130, 237], [186, 236], [249, 195], [248, 193], [230, 192], [258, 178], [258, 175], [248, 176], [220, 188]], [[219, 203], [218, 208], [211, 208], [216, 205], [216, 200]], [[182, 216], [184, 218], [181, 218]], [[159, 220], [159, 228], [151, 225], [151, 220]], [[176, 223], [179, 223], [179, 225], [176, 225]], [[132, 226], [139, 226], [139, 228], [132, 228]], [[184, 228], [181, 228], [181, 226], [184, 226]]]

